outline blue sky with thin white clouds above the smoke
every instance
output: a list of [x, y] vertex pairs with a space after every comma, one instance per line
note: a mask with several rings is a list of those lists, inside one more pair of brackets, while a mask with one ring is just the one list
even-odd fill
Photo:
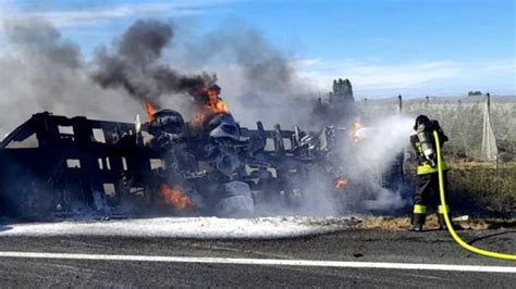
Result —
[[48, 18], [86, 56], [138, 17], [172, 20], [183, 37], [246, 25], [284, 51], [299, 77], [321, 90], [347, 77], [366, 97], [514, 95], [515, 15], [509, 0], [0, 0], [2, 20]]

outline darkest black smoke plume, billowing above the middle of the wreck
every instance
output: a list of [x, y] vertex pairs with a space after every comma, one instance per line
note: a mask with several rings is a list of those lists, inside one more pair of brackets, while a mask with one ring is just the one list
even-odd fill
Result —
[[174, 32], [169, 23], [137, 21], [110, 52], [97, 51], [91, 78], [103, 88], [123, 88], [137, 100], [157, 102], [163, 95], [188, 92], [217, 81], [214, 75], [184, 75], [161, 62]]

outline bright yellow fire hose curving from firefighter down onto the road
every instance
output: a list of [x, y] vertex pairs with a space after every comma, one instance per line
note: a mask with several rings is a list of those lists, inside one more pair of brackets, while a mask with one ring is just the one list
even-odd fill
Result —
[[[441, 196], [441, 205], [443, 205], [443, 208], [446, 208], [446, 200], [444, 199], [444, 181], [443, 181], [443, 171], [442, 171], [441, 144], [439, 141], [438, 131], [433, 131], [433, 137], [435, 138], [435, 147], [438, 151], [439, 190], [440, 190], [440, 196]], [[446, 210], [444, 211], [443, 215], [444, 215], [444, 222], [446, 223], [450, 235], [452, 235], [453, 239], [464, 249], [471, 251], [476, 254], [483, 255], [483, 256], [516, 261], [516, 255], [514, 254], [503, 254], [499, 252], [482, 250], [463, 241], [463, 239], [458, 237], [457, 233], [453, 228], [452, 222], [450, 221], [450, 216], [447, 215]]]

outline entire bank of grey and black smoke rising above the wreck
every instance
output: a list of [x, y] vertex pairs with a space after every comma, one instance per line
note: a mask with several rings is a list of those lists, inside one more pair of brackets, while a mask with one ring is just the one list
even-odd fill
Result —
[[4, 23], [0, 134], [39, 111], [127, 121], [142, 113], [142, 101], [188, 117], [192, 103], [185, 96], [214, 83], [243, 125], [303, 123], [314, 95], [305, 93], [292, 59], [259, 32], [236, 26], [181, 38], [181, 26], [137, 21], [88, 60], [45, 20]]

